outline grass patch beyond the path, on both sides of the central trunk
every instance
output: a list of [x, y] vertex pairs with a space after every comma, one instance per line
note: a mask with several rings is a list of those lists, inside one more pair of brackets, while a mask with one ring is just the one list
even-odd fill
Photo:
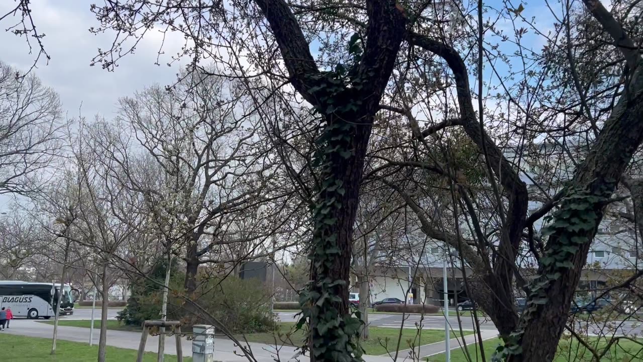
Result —
[[[279, 323], [280, 330], [277, 332], [266, 333], [253, 333], [246, 334], [248, 342], [267, 343], [275, 345], [302, 345], [304, 332], [302, 330], [294, 330], [295, 323]], [[386, 352], [393, 352], [397, 349], [397, 339], [399, 338], [399, 329], [384, 328], [384, 327], [371, 327], [370, 338], [362, 342], [366, 354], [386, 354]], [[399, 344], [399, 350], [411, 348], [410, 346], [417, 347], [418, 345], [428, 345], [444, 340], [444, 330], [422, 330], [421, 336], [417, 336], [417, 330], [404, 329], [402, 338]], [[465, 334], [472, 332], [465, 331]], [[460, 334], [457, 334], [458, 336]], [[242, 336], [237, 336], [240, 341], [244, 341]], [[455, 338], [455, 334], [451, 332], [451, 338]]]

